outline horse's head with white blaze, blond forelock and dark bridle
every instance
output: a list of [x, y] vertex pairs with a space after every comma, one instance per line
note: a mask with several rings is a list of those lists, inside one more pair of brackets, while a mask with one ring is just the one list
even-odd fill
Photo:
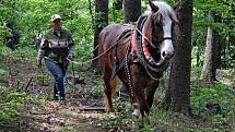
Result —
[[178, 19], [174, 9], [163, 1], [151, 1], [148, 13], [149, 26], [152, 29], [152, 41], [158, 45], [161, 50], [161, 58], [158, 64], [162, 64], [165, 60], [169, 60], [174, 55], [173, 46], [173, 25], [178, 23]]

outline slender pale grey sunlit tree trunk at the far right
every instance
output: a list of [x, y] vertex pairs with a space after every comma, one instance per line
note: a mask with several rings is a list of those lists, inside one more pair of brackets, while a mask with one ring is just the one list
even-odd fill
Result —
[[[215, 15], [213, 12], [209, 12], [209, 19], [214, 21]], [[218, 37], [219, 34], [211, 27], [208, 27], [204, 62], [200, 79], [203, 80], [205, 84], [209, 84], [209, 86], [211, 86], [211, 84], [213, 84], [213, 81], [215, 81], [218, 61]]]

